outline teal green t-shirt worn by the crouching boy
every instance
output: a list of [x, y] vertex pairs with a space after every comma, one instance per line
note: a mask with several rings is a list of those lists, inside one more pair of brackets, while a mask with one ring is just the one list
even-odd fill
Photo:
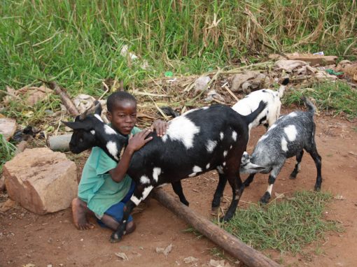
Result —
[[[139, 131], [139, 128], [134, 127], [132, 134]], [[125, 175], [121, 182], [114, 182], [109, 175], [109, 171], [117, 165], [100, 147], [93, 147], [85, 162], [78, 185], [78, 197], [87, 203], [87, 207], [97, 217], [102, 217], [106, 210], [124, 199], [129, 192], [132, 183], [129, 175]]]

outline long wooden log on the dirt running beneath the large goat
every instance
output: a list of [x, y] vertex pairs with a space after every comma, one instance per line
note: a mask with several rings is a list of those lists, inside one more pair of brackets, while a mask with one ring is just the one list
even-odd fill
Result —
[[222, 247], [225, 251], [229, 252], [233, 257], [243, 261], [247, 266], [280, 266], [272, 259], [265, 257], [265, 255], [257, 250], [241, 242], [241, 240], [235, 238], [235, 236], [221, 229], [213, 222], [198, 215], [186, 205], [174, 199], [173, 196], [167, 194], [163, 189], [154, 189], [153, 198], [164, 205], [165, 208], [174, 212], [175, 215], [179, 216], [185, 222], [195, 227], [197, 231], [200, 231], [200, 233]]

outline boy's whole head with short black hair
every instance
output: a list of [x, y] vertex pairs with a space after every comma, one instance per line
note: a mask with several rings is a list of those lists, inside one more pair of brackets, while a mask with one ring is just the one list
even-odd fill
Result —
[[123, 135], [130, 134], [137, 123], [137, 99], [128, 92], [111, 94], [106, 100], [111, 126]]

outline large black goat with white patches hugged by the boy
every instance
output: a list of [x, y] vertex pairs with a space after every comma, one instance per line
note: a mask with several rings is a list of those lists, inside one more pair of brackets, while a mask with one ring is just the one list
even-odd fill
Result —
[[[229, 220], [244, 190], [239, 167], [248, 143], [248, 124], [265, 106], [266, 103], [260, 103], [248, 116], [241, 116], [232, 108], [221, 105], [190, 110], [169, 122], [165, 136], [158, 137], [156, 133], [151, 133], [153, 139], [134, 152], [130, 161], [127, 174], [136, 187], [125, 205], [123, 219], [113, 232], [111, 241], [118, 242], [122, 238], [130, 212], [154, 187], [171, 182], [176, 194], [183, 196], [183, 178], [215, 168], [218, 169], [220, 181], [228, 180], [232, 187], [232, 202], [222, 218]], [[114, 159], [120, 160], [118, 155], [125, 149], [127, 138], [104, 124], [100, 118], [101, 112], [102, 108], [98, 105], [94, 115], [80, 115], [74, 122], [64, 122], [73, 129], [70, 150], [80, 153], [98, 146]], [[178, 186], [175, 188], [175, 185]], [[213, 206], [220, 204], [222, 195], [223, 189], [217, 187]]]

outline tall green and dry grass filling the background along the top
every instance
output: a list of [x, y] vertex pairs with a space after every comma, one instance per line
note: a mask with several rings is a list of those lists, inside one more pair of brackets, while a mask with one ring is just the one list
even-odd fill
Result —
[[[55, 78], [99, 95], [104, 78], [202, 73], [242, 55], [356, 45], [356, 1], [153, 0], [0, 2], [0, 81], [18, 88]], [[120, 56], [123, 44], [152, 68]], [[1, 88], [2, 89], [2, 88]]]

